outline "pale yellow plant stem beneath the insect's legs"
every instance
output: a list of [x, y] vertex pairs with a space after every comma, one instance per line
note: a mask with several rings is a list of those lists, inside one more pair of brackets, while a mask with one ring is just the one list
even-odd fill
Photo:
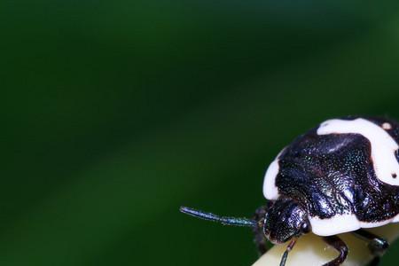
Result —
[[[387, 224], [370, 231], [392, 243], [399, 237], [399, 223]], [[339, 237], [347, 243], [349, 249], [348, 258], [342, 266], [367, 265], [372, 260], [372, 254], [365, 241], [350, 233], [341, 234]], [[254, 262], [253, 266], [278, 266], [286, 245], [273, 246], [257, 262]], [[321, 237], [310, 233], [298, 239], [293, 250], [288, 254], [286, 266], [319, 266], [331, 261], [337, 255], [337, 251], [332, 246], [326, 245]]]

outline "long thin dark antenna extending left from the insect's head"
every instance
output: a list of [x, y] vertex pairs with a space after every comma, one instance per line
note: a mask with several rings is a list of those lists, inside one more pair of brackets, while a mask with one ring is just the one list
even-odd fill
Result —
[[186, 215], [192, 215], [194, 217], [197, 217], [197, 218], [200, 218], [203, 220], [222, 223], [224, 225], [249, 226], [249, 227], [258, 226], [258, 223], [251, 219], [214, 215], [211, 213], [206, 213], [206, 212], [194, 209], [192, 207], [180, 207], [180, 211]]

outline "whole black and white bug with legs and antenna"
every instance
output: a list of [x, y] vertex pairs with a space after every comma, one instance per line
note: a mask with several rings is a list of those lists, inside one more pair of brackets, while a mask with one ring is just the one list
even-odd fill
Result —
[[290, 241], [280, 265], [296, 239], [312, 231], [339, 255], [328, 266], [340, 265], [348, 246], [337, 234], [352, 232], [369, 243], [375, 256], [387, 249], [385, 239], [364, 231], [399, 222], [399, 123], [386, 118], [345, 117], [321, 123], [293, 140], [266, 171], [266, 206], [253, 219], [224, 217], [189, 207], [187, 215], [223, 224], [254, 228], [261, 254], [266, 241]]

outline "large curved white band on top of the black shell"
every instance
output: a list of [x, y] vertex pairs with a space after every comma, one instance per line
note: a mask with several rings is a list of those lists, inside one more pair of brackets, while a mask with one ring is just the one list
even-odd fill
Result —
[[332, 119], [323, 122], [317, 129], [318, 135], [348, 133], [361, 134], [370, 141], [377, 178], [387, 184], [399, 185], [399, 179], [392, 177], [392, 174], [399, 173], [399, 163], [395, 158], [395, 151], [399, 146], [384, 129], [363, 118], [351, 121]]

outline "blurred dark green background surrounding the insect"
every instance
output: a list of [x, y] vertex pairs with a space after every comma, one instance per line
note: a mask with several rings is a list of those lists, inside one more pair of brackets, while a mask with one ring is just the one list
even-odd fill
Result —
[[0, 264], [250, 265], [250, 230], [178, 207], [250, 216], [293, 137], [399, 119], [398, 8], [2, 1]]

